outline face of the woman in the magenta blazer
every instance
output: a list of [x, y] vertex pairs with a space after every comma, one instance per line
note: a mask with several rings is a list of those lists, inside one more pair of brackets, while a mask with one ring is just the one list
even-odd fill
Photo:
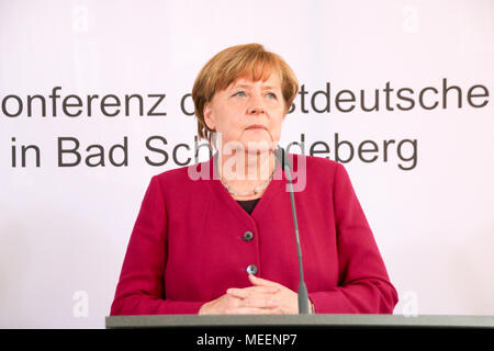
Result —
[[273, 148], [280, 140], [284, 115], [277, 73], [266, 81], [237, 78], [225, 90], [217, 91], [204, 107], [204, 122], [221, 134], [223, 145], [231, 143], [246, 151]]

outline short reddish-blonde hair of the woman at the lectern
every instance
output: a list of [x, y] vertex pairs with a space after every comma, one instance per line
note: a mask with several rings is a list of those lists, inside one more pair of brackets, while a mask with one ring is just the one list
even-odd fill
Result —
[[204, 122], [204, 106], [213, 100], [216, 91], [226, 89], [239, 77], [266, 81], [273, 69], [281, 79], [281, 91], [288, 113], [299, 92], [299, 82], [283, 58], [267, 52], [260, 44], [236, 45], [214, 55], [199, 72], [192, 88], [199, 138], [206, 139], [212, 145], [213, 131]]

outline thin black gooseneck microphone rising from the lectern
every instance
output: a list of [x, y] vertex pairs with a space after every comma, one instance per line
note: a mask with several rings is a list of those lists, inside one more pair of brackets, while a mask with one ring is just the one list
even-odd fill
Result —
[[291, 177], [291, 168], [292, 165], [287, 156], [284, 149], [280, 146], [274, 150], [274, 156], [280, 160], [281, 169], [284, 171], [287, 179], [289, 181], [289, 192], [290, 192], [290, 201], [292, 204], [292, 217], [293, 217], [293, 226], [295, 227], [295, 239], [296, 239], [296, 256], [299, 258], [299, 274], [300, 274], [300, 283], [299, 283], [299, 314], [300, 315], [308, 315], [308, 293], [307, 286], [305, 286], [304, 281], [304, 270], [302, 267], [302, 249], [300, 248], [300, 239], [299, 239], [299, 224], [296, 222], [296, 211], [295, 211], [295, 199], [293, 196], [293, 184]]

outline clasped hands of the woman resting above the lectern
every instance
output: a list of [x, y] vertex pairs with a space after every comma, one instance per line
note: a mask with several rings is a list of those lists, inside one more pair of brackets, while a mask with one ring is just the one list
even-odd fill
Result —
[[[200, 315], [297, 314], [299, 295], [292, 290], [249, 274], [252, 286], [231, 287], [226, 294], [202, 305]], [[311, 302], [308, 302], [311, 306]]]

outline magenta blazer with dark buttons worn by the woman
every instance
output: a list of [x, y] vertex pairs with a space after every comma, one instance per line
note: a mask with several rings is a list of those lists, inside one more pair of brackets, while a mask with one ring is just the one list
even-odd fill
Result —
[[[325, 158], [297, 157], [305, 160], [306, 179], [294, 196], [315, 313], [391, 314], [397, 294], [348, 173]], [[303, 165], [297, 157], [295, 172]], [[151, 178], [111, 315], [197, 314], [228, 287], [250, 286], [249, 272], [297, 291], [290, 194], [281, 167], [249, 215], [217, 179], [213, 158]], [[213, 179], [191, 179], [192, 167]]]

